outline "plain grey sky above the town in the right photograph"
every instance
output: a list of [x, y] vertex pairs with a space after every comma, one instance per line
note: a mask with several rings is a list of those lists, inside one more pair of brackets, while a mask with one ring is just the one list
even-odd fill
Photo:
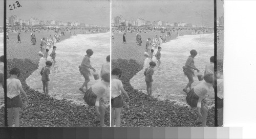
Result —
[[[223, 7], [217, 7], [223, 13]], [[214, 1], [113, 1], [112, 18], [118, 15], [128, 20], [143, 18], [213, 27]]]

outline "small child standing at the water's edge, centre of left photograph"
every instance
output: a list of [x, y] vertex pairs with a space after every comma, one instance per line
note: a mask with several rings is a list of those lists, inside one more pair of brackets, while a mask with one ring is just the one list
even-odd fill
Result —
[[52, 62], [47, 61], [46, 66], [41, 69], [41, 80], [42, 80], [42, 90], [44, 90], [45, 95], [48, 95], [48, 83], [50, 81], [49, 74], [50, 74], [50, 67], [52, 66]]

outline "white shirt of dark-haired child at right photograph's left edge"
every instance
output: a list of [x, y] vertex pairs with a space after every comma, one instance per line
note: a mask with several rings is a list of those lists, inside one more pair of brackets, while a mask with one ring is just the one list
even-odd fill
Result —
[[123, 86], [122, 81], [120, 79], [112, 79], [111, 81], [111, 98], [116, 98], [122, 94], [121, 88]]

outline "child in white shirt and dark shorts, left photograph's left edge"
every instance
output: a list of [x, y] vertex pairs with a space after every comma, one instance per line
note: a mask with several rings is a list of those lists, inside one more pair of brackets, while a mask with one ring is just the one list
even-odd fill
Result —
[[[19, 110], [22, 107], [22, 98], [20, 92], [26, 99], [25, 104], [29, 102], [26, 92], [22, 88], [22, 83], [17, 79], [20, 75], [18, 68], [13, 68], [9, 72], [10, 78], [7, 82], [7, 110], [8, 110], [8, 126], [12, 126], [12, 118], [14, 116], [15, 127], [19, 127]], [[14, 110], [14, 115], [13, 115]]]

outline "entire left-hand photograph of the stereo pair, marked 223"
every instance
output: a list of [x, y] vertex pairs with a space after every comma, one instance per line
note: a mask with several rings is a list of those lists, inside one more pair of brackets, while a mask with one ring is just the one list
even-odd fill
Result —
[[6, 14], [8, 126], [110, 126], [110, 1], [7, 1]]

